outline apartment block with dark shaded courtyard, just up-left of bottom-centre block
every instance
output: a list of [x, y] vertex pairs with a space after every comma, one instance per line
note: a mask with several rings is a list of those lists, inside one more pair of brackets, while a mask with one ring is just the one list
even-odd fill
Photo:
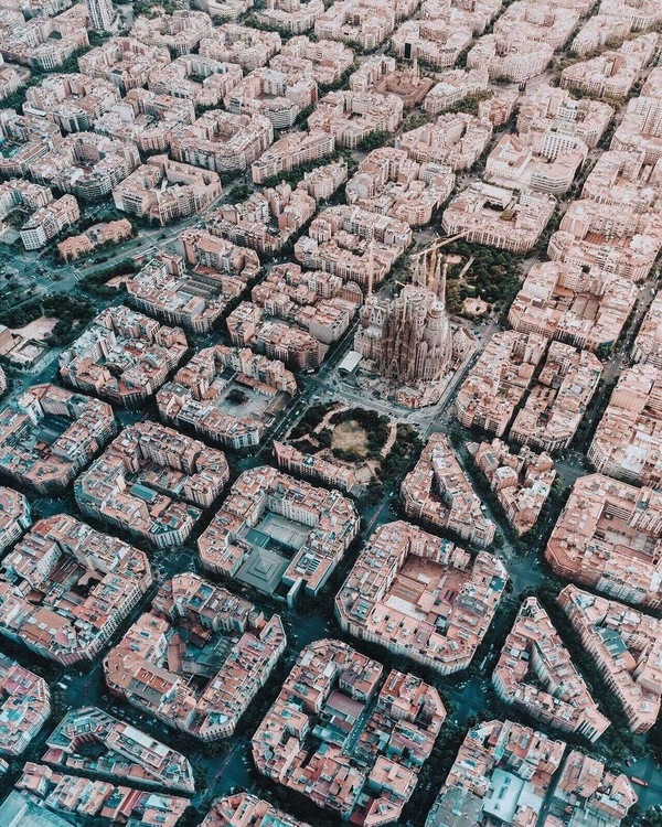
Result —
[[[279, 615], [184, 572], [162, 583], [104, 660], [110, 691], [167, 726], [204, 742], [229, 738], [286, 647]], [[206, 663], [205, 648], [222, 659]], [[209, 674], [203, 686], [192, 672]]]

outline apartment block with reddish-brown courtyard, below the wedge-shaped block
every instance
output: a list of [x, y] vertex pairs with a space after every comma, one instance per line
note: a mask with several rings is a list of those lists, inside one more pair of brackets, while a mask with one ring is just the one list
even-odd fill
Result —
[[496, 557], [472, 559], [398, 520], [372, 535], [338, 592], [335, 614], [344, 632], [449, 675], [470, 665], [506, 582]]

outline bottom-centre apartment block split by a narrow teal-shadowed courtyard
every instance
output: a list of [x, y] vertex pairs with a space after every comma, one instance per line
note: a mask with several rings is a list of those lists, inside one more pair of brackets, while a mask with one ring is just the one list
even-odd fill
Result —
[[397, 823], [446, 709], [420, 678], [393, 670], [382, 684], [382, 673], [340, 641], [308, 645], [253, 735], [258, 772], [346, 820], [360, 809]]

